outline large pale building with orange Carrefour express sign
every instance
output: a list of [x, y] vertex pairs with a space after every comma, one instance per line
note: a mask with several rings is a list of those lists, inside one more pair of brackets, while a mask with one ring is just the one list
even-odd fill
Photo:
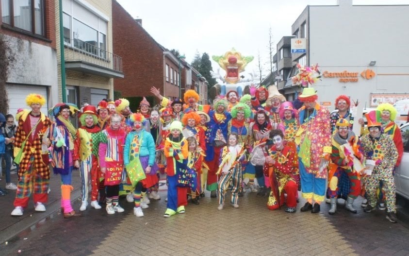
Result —
[[[301, 65], [318, 64], [322, 81], [312, 85], [318, 101], [334, 109], [345, 94], [363, 106], [409, 99], [409, 5], [307, 6], [292, 26], [295, 38], [306, 38], [306, 53], [293, 53]], [[296, 73], [293, 68], [290, 77]], [[301, 91], [284, 86], [290, 99]]]

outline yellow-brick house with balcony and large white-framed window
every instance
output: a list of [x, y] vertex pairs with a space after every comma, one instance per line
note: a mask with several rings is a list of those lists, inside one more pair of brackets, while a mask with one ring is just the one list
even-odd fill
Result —
[[[97, 105], [102, 99], [114, 99], [114, 78], [123, 78], [122, 58], [113, 54], [113, 18], [111, 0], [63, 0], [64, 63], [57, 48], [58, 84], [62, 85], [65, 67], [67, 102], [81, 106]], [[56, 4], [56, 12], [59, 11]], [[56, 16], [57, 24], [60, 18]], [[60, 43], [60, 27], [56, 28]], [[62, 65], [63, 64], [63, 65]], [[63, 86], [59, 86], [62, 100]]]

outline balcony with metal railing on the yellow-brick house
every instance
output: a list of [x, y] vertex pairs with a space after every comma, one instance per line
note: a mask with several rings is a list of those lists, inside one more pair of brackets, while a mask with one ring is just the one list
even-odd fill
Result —
[[79, 39], [65, 39], [65, 69], [106, 78], [124, 78], [122, 57]]

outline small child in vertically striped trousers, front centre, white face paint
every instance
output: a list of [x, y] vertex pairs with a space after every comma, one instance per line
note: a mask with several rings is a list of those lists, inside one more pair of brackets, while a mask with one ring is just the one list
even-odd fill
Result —
[[238, 144], [239, 136], [237, 134], [230, 134], [228, 137], [228, 146], [223, 147], [220, 154], [220, 165], [216, 174], [220, 174], [219, 182], [217, 183], [218, 203], [217, 209], [222, 210], [226, 192], [231, 185], [231, 205], [234, 208], [239, 207], [239, 188], [242, 179], [242, 164], [245, 157], [245, 148]]

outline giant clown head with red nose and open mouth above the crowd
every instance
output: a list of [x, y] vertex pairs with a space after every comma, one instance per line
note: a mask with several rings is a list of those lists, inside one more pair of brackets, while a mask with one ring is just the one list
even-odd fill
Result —
[[226, 70], [224, 79], [228, 84], [236, 84], [240, 80], [240, 73], [245, 71], [245, 66], [254, 59], [253, 56], [242, 56], [242, 54], [231, 48], [222, 56], [212, 56], [213, 60], [219, 64], [221, 68]]

